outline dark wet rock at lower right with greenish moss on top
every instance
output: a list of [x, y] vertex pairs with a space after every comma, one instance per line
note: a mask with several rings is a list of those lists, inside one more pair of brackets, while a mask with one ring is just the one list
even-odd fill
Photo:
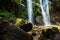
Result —
[[42, 30], [41, 38], [45, 39], [45, 40], [51, 39], [53, 37], [53, 35], [56, 34], [56, 33], [59, 33], [59, 30], [55, 27], [53, 27], [52, 29]]

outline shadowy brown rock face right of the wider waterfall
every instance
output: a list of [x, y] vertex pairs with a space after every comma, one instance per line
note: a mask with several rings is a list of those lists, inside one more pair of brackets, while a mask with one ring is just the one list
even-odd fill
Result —
[[50, 0], [50, 2], [51, 20], [55, 22], [57, 25], [60, 25], [60, 1]]

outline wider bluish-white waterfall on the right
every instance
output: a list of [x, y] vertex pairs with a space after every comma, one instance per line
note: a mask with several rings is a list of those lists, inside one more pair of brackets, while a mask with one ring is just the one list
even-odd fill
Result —
[[49, 0], [40, 0], [40, 6], [42, 10], [43, 22], [45, 26], [51, 25], [49, 15]]

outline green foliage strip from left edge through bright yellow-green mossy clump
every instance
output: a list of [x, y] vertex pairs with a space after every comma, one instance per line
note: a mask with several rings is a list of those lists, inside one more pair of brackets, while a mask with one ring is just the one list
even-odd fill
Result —
[[5, 11], [5, 10], [3, 10], [3, 11], [0, 10], [0, 17], [8, 20], [11, 23], [17, 24], [18, 26], [22, 26], [27, 23], [26, 20], [24, 20], [22, 18], [18, 18], [12, 12], [9, 13], [8, 11]]

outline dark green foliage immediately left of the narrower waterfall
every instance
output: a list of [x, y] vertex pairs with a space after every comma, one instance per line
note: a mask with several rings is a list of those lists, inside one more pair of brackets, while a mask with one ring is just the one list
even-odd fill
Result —
[[21, 0], [21, 4], [20, 4], [20, 14], [21, 14], [21, 18], [23, 19], [27, 19], [28, 18], [28, 14], [27, 14], [27, 3], [26, 0]]

